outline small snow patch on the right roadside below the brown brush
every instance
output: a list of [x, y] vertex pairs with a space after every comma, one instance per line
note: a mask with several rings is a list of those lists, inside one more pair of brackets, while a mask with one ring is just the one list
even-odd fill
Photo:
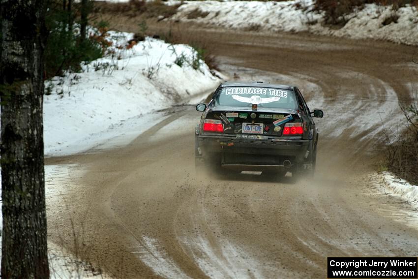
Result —
[[389, 172], [372, 176], [374, 185], [384, 193], [398, 197], [418, 209], [418, 186], [409, 184], [406, 180], [397, 178]]

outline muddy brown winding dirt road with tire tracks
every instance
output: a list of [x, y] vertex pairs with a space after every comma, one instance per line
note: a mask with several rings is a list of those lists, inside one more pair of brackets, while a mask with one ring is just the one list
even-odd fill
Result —
[[368, 177], [382, 158], [382, 123], [397, 130], [398, 99], [417, 89], [416, 48], [205, 36], [225, 73], [298, 85], [324, 109], [315, 179], [196, 177], [200, 114], [179, 106], [126, 147], [48, 159], [86, 170], [49, 205], [49, 239], [118, 278], [326, 278], [327, 256], [416, 256], [417, 211]]

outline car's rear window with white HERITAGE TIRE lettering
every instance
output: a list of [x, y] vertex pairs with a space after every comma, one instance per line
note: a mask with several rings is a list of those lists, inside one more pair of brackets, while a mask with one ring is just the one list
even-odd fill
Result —
[[223, 87], [215, 98], [218, 106], [297, 109], [295, 93], [290, 90], [266, 87]]

